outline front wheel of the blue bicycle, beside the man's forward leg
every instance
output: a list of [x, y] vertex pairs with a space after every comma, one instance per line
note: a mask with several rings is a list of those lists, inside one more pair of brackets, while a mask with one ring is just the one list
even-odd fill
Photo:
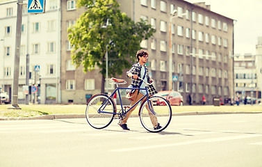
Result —
[[[151, 103], [151, 104], [149, 104]], [[144, 100], [139, 109], [140, 122], [149, 132], [161, 132], [170, 124], [172, 118], [172, 109], [170, 104], [163, 97], [149, 97], [149, 103]], [[156, 114], [147, 110], [147, 106], [151, 105]], [[160, 124], [161, 128], [155, 129], [153, 124]]]

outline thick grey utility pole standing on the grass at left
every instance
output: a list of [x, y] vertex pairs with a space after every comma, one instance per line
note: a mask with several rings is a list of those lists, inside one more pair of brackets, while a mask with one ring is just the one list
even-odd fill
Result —
[[21, 109], [18, 103], [18, 81], [19, 81], [19, 61], [20, 61], [20, 45], [21, 45], [21, 31], [22, 31], [22, 6], [23, 0], [17, 1], [17, 32], [15, 38], [15, 65], [13, 75], [13, 96], [12, 106], [8, 109]]

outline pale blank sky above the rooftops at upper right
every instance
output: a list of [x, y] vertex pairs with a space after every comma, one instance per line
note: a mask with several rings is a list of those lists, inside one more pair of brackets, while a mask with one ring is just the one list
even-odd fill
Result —
[[257, 38], [262, 36], [261, 0], [186, 0], [205, 2], [211, 11], [235, 19], [235, 54], [256, 54]]

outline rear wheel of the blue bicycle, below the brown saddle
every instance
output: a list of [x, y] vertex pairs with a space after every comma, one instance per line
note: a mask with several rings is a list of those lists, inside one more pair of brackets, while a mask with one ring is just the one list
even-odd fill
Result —
[[[106, 101], [108, 100], [108, 101]], [[103, 106], [103, 111], [109, 113], [99, 113], [100, 107]], [[88, 100], [86, 109], [85, 109], [85, 118], [88, 121], [88, 124], [95, 129], [103, 129], [108, 127], [110, 123], [113, 121], [113, 118], [116, 113], [115, 102], [110, 98], [108, 99], [108, 95], [105, 94], [97, 94], [94, 95]]]

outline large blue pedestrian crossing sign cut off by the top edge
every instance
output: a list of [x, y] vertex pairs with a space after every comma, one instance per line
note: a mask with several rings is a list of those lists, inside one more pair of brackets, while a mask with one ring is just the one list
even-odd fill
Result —
[[45, 0], [28, 0], [27, 13], [44, 13]]

